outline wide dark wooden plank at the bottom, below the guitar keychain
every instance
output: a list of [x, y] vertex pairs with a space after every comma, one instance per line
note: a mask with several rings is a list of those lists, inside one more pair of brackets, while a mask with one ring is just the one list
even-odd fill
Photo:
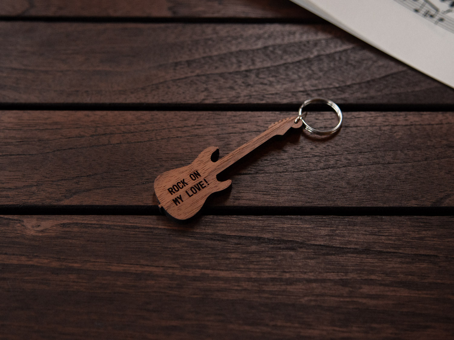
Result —
[[453, 217], [0, 218], [5, 339], [452, 339]]

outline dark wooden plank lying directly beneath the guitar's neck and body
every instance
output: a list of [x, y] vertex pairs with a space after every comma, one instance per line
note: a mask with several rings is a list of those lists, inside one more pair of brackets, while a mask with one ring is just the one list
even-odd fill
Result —
[[[294, 112], [0, 112], [0, 204], [153, 205], [155, 178]], [[323, 128], [332, 113], [307, 118]], [[335, 123], [334, 123], [335, 124]], [[452, 112], [344, 112], [332, 138], [276, 137], [208, 207], [452, 207]], [[307, 210], [307, 209], [306, 209]]]

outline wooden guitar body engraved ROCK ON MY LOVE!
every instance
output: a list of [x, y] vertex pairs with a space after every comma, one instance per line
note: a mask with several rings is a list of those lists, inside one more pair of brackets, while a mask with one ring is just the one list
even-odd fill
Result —
[[189, 165], [169, 170], [154, 181], [154, 192], [162, 207], [175, 219], [189, 219], [202, 209], [209, 195], [227, 189], [231, 180], [217, 180], [216, 163], [212, 155], [218, 152], [210, 146]]

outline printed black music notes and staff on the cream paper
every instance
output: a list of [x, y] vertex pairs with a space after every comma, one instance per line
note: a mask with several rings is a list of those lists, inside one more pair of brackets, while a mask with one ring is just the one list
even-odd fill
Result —
[[454, 0], [395, 0], [424, 19], [454, 33]]

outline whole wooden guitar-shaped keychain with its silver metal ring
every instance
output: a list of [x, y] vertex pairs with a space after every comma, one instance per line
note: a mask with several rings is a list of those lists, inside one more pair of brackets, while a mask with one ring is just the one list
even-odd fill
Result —
[[[302, 109], [309, 104], [326, 104], [333, 108], [338, 118], [337, 125], [331, 130], [317, 130], [309, 126], [304, 121], [307, 112], [302, 112]], [[218, 181], [217, 175], [271, 137], [283, 135], [291, 128], [296, 129], [301, 126], [311, 133], [326, 136], [338, 131], [341, 125], [342, 112], [334, 102], [323, 98], [308, 99], [301, 105], [297, 117], [276, 121], [266, 131], [216, 162], [211, 159], [214, 153], [219, 152], [219, 148], [210, 146], [203, 150], [191, 164], [163, 172], [156, 177], [154, 192], [159, 201], [159, 208], [164, 209], [175, 219], [189, 219], [202, 209], [209, 195], [227, 189], [232, 184], [231, 180]]]

